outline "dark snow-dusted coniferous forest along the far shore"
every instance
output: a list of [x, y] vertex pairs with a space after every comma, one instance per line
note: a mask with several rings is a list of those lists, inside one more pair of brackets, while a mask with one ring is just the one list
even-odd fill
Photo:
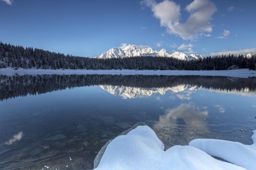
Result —
[[232, 65], [256, 70], [256, 56], [221, 55], [197, 60], [172, 57], [125, 57], [97, 59], [23, 48], [0, 42], [0, 68], [37, 69], [138, 69], [138, 70], [226, 70]]

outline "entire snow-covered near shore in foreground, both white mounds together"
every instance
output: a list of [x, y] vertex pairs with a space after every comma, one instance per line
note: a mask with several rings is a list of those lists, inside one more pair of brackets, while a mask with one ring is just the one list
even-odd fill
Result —
[[[255, 170], [253, 145], [218, 139], [195, 139], [186, 146], [164, 145], [148, 126], [138, 126], [110, 142], [96, 170]], [[224, 162], [213, 158], [218, 156]]]

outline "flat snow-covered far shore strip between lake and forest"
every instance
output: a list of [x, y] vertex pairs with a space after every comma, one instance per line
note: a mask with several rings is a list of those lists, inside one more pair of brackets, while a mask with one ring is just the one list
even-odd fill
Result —
[[212, 70], [212, 71], [189, 71], [189, 70], [71, 70], [71, 69], [57, 69], [57, 70], [44, 70], [44, 69], [23, 69], [15, 70], [13, 68], [0, 68], [0, 74], [13, 75], [13, 74], [122, 74], [122, 75], [198, 75], [198, 76], [224, 76], [224, 77], [256, 77], [256, 71], [249, 69], [238, 70]]

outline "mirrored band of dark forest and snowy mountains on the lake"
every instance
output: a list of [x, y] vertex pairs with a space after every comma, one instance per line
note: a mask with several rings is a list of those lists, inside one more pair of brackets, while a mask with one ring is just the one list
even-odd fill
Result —
[[[82, 86], [99, 86], [113, 95], [126, 98], [151, 96], [154, 93], [174, 93], [189, 89], [210, 89], [221, 93], [254, 95], [256, 78], [211, 76], [143, 76], [143, 75], [0, 75], [0, 100], [44, 94]], [[183, 96], [178, 96], [183, 97]]]

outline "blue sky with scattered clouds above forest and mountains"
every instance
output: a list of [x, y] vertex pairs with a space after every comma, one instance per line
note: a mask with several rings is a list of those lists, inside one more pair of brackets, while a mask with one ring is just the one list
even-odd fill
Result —
[[0, 0], [0, 40], [95, 57], [123, 43], [256, 53], [255, 0]]

